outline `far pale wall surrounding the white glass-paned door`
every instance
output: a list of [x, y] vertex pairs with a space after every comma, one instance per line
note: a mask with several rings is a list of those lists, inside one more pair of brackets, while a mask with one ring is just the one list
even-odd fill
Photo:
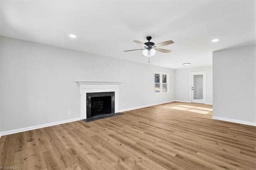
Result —
[[212, 66], [176, 69], [175, 100], [190, 102], [190, 73], [206, 71], [206, 104], [212, 104]]

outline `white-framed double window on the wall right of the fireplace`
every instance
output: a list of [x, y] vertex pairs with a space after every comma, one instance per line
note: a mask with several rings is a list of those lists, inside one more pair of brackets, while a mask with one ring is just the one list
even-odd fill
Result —
[[169, 74], [155, 71], [155, 94], [169, 92]]

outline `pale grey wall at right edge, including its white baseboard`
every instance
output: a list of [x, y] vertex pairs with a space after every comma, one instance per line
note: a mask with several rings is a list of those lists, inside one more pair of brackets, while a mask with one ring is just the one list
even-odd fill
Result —
[[256, 125], [255, 45], [213, 52], [213, 118]]

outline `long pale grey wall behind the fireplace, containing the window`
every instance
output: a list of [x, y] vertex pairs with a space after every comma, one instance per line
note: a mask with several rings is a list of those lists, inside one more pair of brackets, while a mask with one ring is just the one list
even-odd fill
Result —
[[[169, 73], [170, 93], [154, 95], [154, 71]], [[174, 100], [173, 69], [6, 37], [0, 79], [0, 132], [80, 117], [77, 80], [123, 81], [120, 110]]]

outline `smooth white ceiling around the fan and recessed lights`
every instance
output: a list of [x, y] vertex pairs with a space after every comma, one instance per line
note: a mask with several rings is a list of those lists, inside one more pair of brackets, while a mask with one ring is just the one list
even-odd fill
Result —
[[[255, 1], [4, 1], [0, 35], [148, 64], [133, 42], [161, 47], [150, 64], [212, 65], [212, 51], [255, 44]], [[72, 39], [69, 34], [75, 34]], [[211, 42], [213, 39], [219, 42]], [[191, 65], [182, 65], [182, 63]]]

